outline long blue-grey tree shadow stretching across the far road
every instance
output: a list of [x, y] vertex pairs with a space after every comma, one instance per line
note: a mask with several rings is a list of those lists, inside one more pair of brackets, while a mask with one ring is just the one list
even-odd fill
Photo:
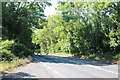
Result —
[[114, 65], [112, 63], [105, 63], [104, 61], [92, 60], [92, 59], [80, 59], [72, 57], [61, 57], [55, 55], [35, 55], [36, 59], [34, 62], [46, 62], [46, 63], [65, 63], [75, 65], [95, 65], [95, 66], [107, 66]]

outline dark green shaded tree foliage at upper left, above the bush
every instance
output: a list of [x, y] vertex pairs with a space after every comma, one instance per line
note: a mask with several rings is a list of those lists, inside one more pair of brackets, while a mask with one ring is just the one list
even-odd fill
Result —
[[15, 40], [32, 48], [32, 28], [42, 28], [45, 21], [44, 8], [48, 2], [3, 2], [2, 34], [3, 40]]

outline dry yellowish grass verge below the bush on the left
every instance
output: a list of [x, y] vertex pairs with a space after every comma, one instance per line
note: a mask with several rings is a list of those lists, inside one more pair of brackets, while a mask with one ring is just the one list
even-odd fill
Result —
[[6, 72], [15, 67], [19, 67], [31, 62], [29, 58], [14, 59], [11, 62], [4, 61], [0, 64], [0, 72]]

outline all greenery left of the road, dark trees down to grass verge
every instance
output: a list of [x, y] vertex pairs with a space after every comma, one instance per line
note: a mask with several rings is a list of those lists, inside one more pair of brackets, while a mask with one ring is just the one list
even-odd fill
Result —
[[27, 64], [34, 59], [32, 30], [41, 29], [48, 2], [2, 2], [2, 40], [0, 71]]

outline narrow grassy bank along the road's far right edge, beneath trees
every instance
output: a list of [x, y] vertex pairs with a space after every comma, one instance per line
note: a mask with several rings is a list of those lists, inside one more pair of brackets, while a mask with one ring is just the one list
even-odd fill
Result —
[[111, 55], [101, 55], [101, 54], [90, 54], [90, 55], [72, 55], [68, 53], [42, 53], [42, 55], [56, 55], [56, 56], [65, 56], [65, 57], [75, 57], [81, 59], [94, 59], [94, 60], [102, 60], [104, 62], [112, 62], [118, 63], [120, 60], [120, 54], [116, 56]]

